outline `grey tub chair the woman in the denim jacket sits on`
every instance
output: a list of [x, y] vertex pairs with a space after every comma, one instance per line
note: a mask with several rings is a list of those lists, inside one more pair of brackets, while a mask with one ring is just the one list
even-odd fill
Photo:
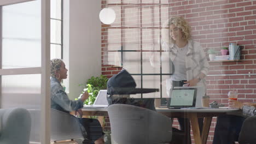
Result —
[[[40, 110], [30, 110], [32, 117], [31, 142], [40, 142]], [[51, 109], [51, 143], [78, 143], [84, 139], [77, 117]]]

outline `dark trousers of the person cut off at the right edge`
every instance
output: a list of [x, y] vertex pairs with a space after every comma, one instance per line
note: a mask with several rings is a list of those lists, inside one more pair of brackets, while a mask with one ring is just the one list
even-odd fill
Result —
[[244, 117], [224, 115], [217, 118], [213, 144], [232, 144], [238, 140]]

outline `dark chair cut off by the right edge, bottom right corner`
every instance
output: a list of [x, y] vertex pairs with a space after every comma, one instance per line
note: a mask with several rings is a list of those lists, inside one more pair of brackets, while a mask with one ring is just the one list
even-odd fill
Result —
[[256, 116], [248, 117], [243, 122], [238, 143], [255, 144], [256, 143]]

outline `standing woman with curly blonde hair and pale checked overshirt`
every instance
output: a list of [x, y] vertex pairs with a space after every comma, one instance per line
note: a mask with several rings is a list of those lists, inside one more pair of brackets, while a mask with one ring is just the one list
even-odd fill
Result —
[[[205, 89], [205, 76], [209, 64], [200, 44], [191, 39], [191, 28], [183, 17], [174, 16], [168, 20], [168, 41], [162, 41], [162, 47], [169, 52], [170, 65], [174, 72], [166, 80], [167, 93], [173, 87], [199, 86]], [[170, 97], [170, 94], [168, 95]], [[187, 118], [178, 118], [181, 130], [186, 133], [186, 144], [191, 143], [190, 122]]]

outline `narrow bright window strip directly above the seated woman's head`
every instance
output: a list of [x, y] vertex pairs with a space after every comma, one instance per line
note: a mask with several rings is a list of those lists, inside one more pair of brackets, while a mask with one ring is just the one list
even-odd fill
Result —
[[63, 58], [62, 0], [51, 0], [51, 59]]

